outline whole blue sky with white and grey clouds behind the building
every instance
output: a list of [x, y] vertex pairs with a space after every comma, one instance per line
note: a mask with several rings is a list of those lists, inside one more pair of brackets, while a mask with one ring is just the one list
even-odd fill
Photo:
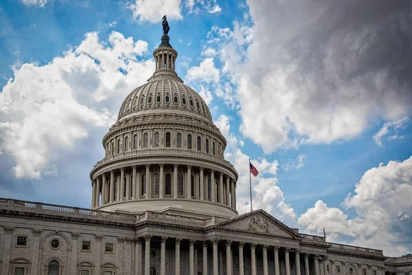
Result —
[[227, 137], [240, 212], [250, 157], [256, 207], [411, 252], [411, 4], [369, 2], [2, 1], [0, 197], [90, 206], [102, 137], [152, 74], [168, 14], [177, 72]]

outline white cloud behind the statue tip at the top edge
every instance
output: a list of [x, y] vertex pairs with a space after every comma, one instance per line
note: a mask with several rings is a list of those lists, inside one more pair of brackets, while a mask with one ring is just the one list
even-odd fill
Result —
[[133, 10], [133, 17], [140, 22], [158, 23], [164, 15], [172, 20], [183, 18], [181, 0], [135, 0], [135, 3], [131, 4], [129, 8]]

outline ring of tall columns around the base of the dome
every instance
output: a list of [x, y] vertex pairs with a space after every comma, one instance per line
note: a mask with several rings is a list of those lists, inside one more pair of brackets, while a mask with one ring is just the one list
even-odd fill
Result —
[[[164, 164], [159, 165], [159, 198], [165, 197], [165, 171]], [[170, 197], [177, 198], [178, 196], [178, 164], [174, 164], [173, 178], [172, 178], [172, 195]], [[120, 173], [116, 170], [111, 170], [107, 173], [102, 173], [93, 179], [92, 203], [91, 207], [96, 208], [105, 203], [113, 203], [113, 201], [124, 201], [130, 199], [130, 184], [132, 184], [131, 199], [141, 198], [141, 184], [146, 184], [146, 195], [143, 197], [150, 199], [152, 195], [152, 172], [150, 164], [146, 164], [146, 182], [141, 182], [141, 172], [137, 170], [137, 166], [132, 166], [132, 177], [130, 180], [130, 171], [125, 172], [125, 168], [120, 168]], [[225, 204], [231, 208], [236, 209], [236, 184], [229, 175], [216, 172], [215, 170], [205, 170], [204, 167], [198, 167], [198, 174], [196, 173], [194, 182], [194, 199], [209, 200], [211, 202], [218, 202]], [[208, 173], [205, 173], [205, 172]], [[215, 173], [218, 173], [218, 190], [216, 190]], [[116, 174], [116, 175], [115, 175]], [[125, 175], [127, 175], [125, 179]], [[186, 166], [185, 182], [183, 182], [184, 194], [186, 199], [193, 199], [192, 197], [192, 166]], [[198, 175], [198, 176], [197, 176]], [[115, 186], [115, 177], [117, 177], [117, 186]], [[211, 189], [208, 188], [208, 180], [211, 181]], [[196, 182], [199, 179], [199, 182]], [[130, 182], [132, 181], [132, 182]], [[115, 188], [117, 188], [115, 192]], [[126, 196], [125, 193], [126, 188]], [[199, 188], [199, 190], [197, 190]], [[198, 192], [199, 191], [199, 192]], [[209, 194], [210, 192], [210, 194]], [[116, 197], [115, 197], [116, 193]], [[100, 200], [100, 195], [102, 199]], [[157, 196], [156, 196], [157, 197]]]

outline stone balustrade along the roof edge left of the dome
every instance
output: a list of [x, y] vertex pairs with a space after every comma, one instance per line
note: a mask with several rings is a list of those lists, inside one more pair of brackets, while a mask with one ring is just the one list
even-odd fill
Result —
[[134, 223], [135, 221], [135, 217], [130, 214], [106, 212], [71, 206], [58, 206], [56, 204], [39, 203], [34, 201], [20, 201], [17, 199], [0, 198], [0, 210], [2, 209], [35, 212], [36, 214], [56, 214], [65, 217], [71, 216], [84, 219], [104, 219], [105, 221], [116, 221], [123, 223]]

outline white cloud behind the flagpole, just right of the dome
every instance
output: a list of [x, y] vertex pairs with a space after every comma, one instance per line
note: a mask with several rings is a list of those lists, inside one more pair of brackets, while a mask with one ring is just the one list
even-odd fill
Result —
[[[238, 183], [249, 183], [249, 156], [240, 149], [242, 142], [230, 132], [229, 117], [220, 115], [214, 123], [227, 137], [225, 159], [238, 171]], [[253, 210], [263, 209], [289, 225], [295, 224], [295, 211], [285, 202], [284, 193], [279, 188], [276, 177], [279, 162], [277, 160], [269, 162], [263, 158], [251, 159], [251, 162], [260, 172], [258, 177], [252, 179]], [[251, 210], [249, 184], [238, 184], [236, 196], [238, 212], [249, 212]]]

